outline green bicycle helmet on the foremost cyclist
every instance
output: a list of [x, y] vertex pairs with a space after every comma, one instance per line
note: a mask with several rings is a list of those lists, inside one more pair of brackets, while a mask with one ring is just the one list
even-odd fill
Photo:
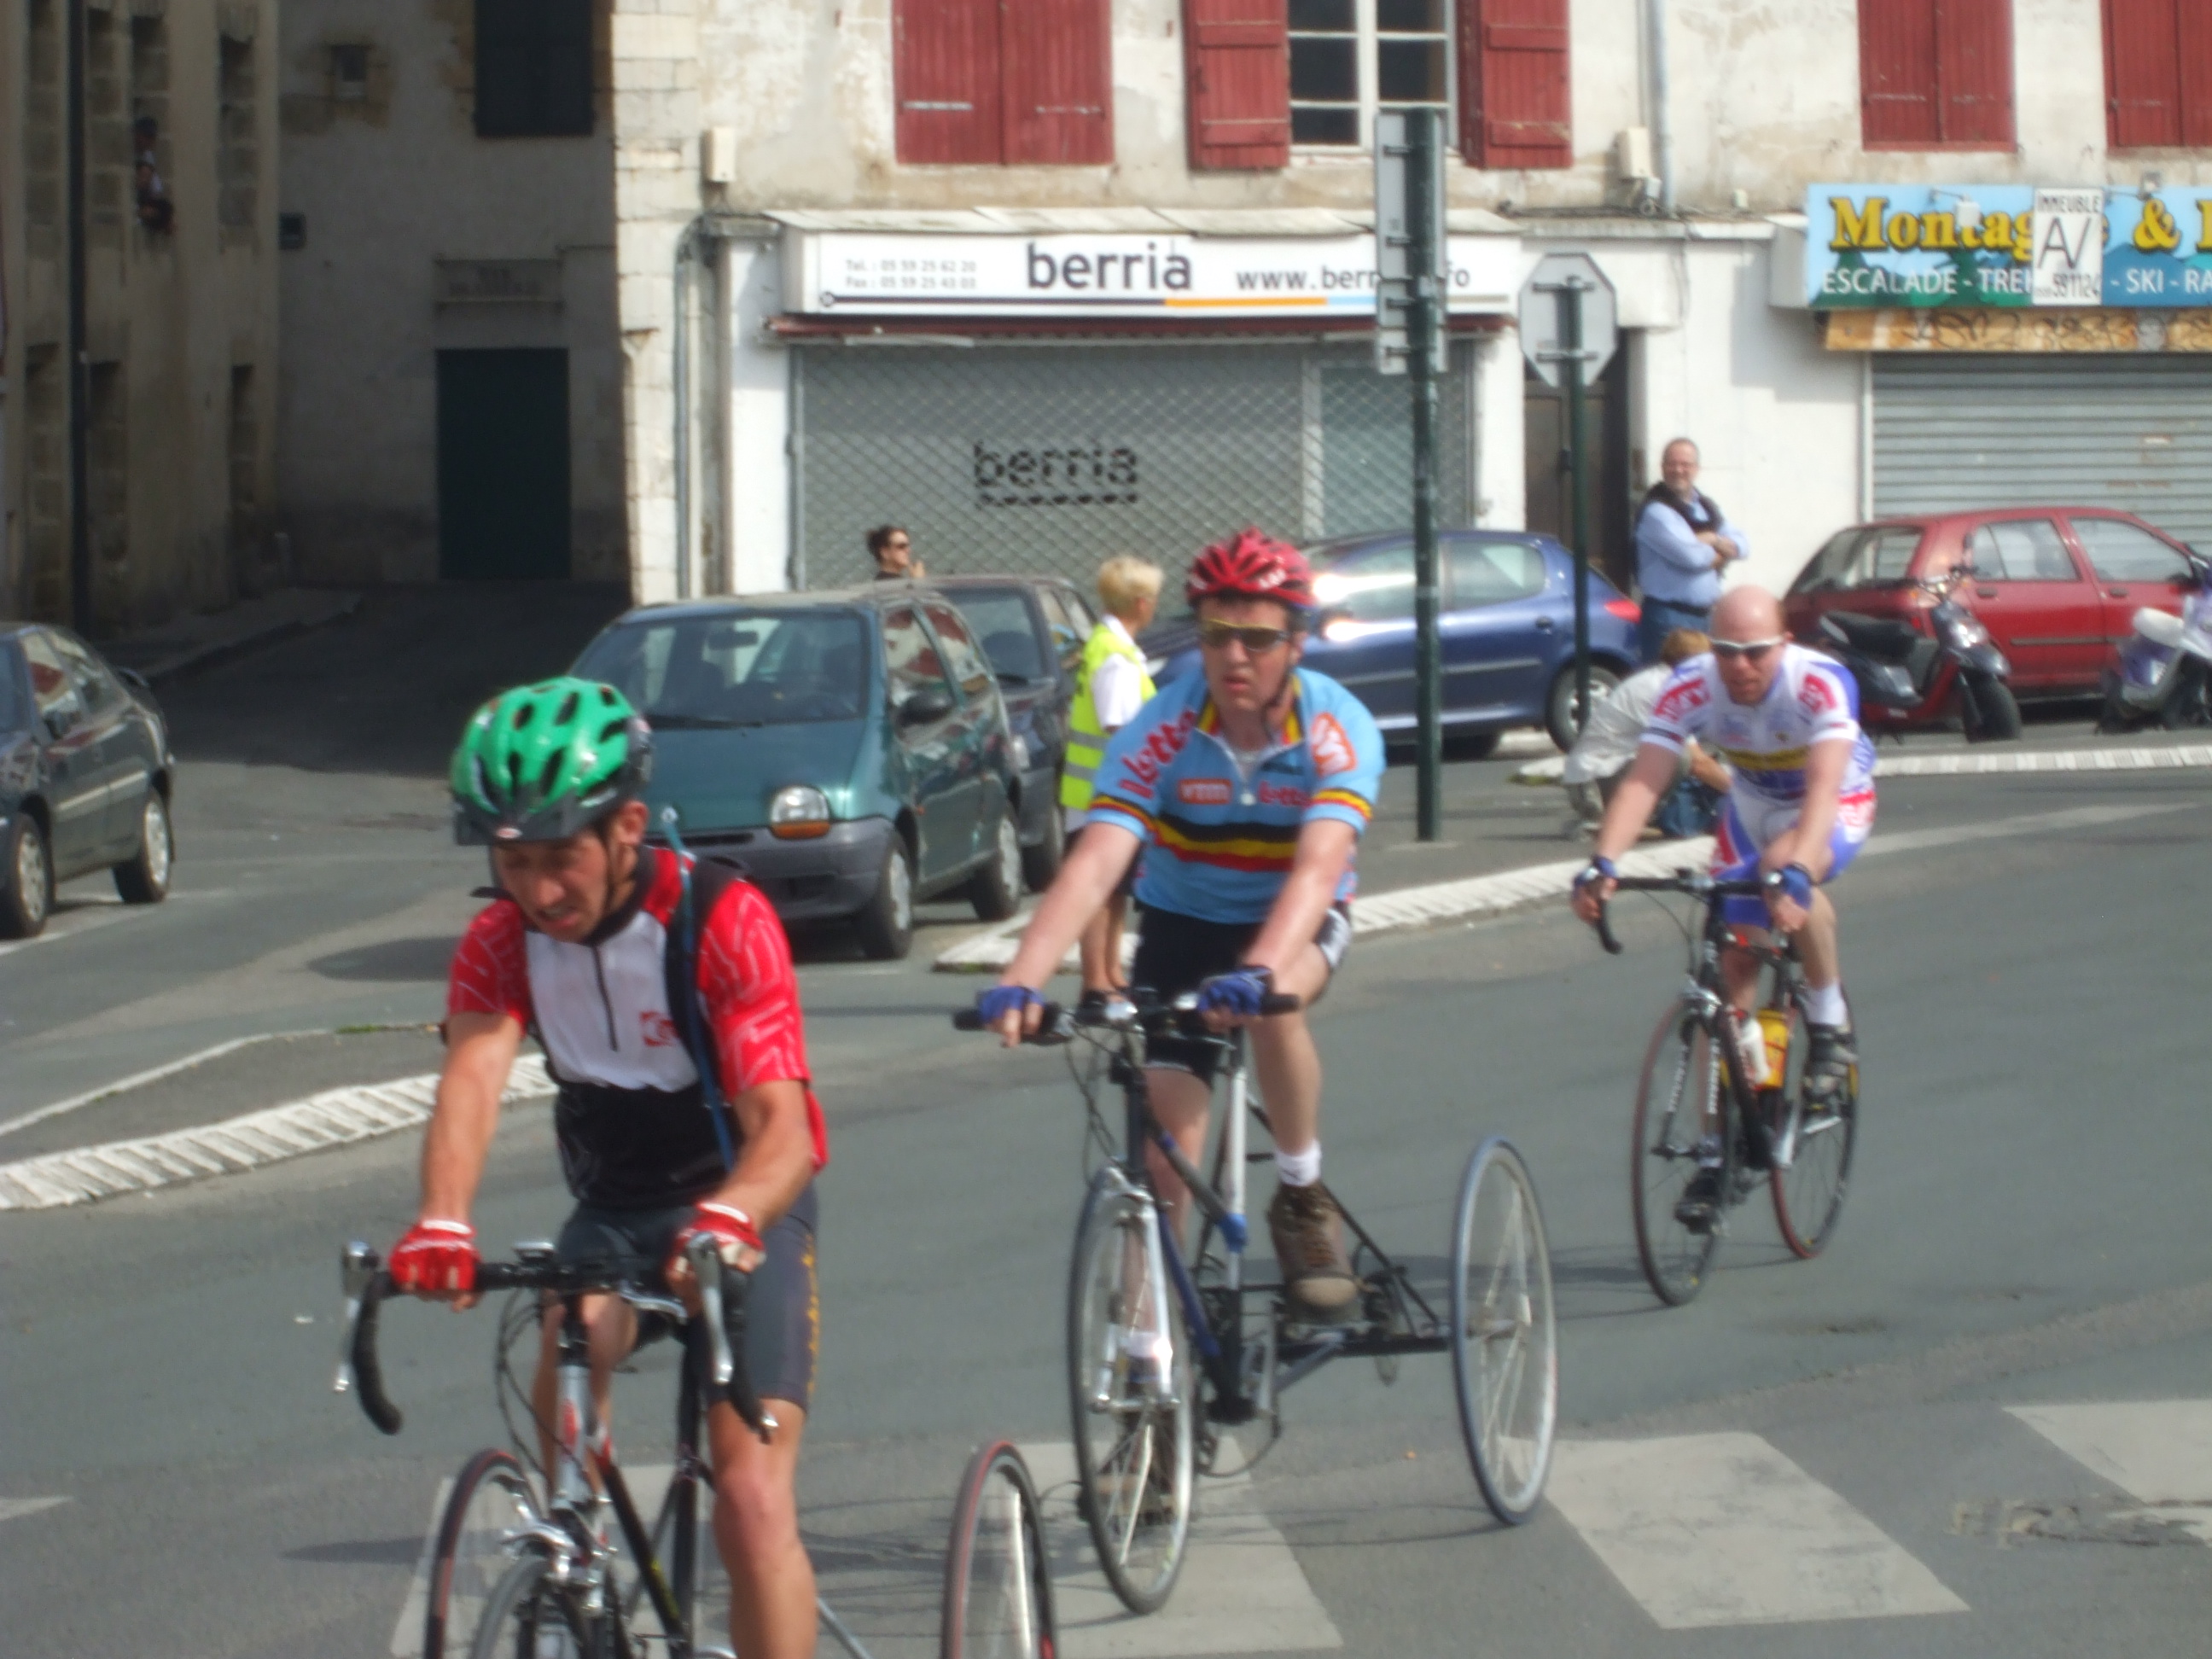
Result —
[[595, 679], [515, 686], [469, 719], [453, 750], [453, 838], [462, 847], [566, 841], [653, 776], [653, 730]]

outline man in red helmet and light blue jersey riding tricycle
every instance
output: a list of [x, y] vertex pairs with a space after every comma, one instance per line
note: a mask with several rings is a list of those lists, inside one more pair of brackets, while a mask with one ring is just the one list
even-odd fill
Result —
[[[1270, 991], [1310, 1006], [1352, 942], [1352, 856], [1383, 781], [1383, 732], [1334, 679], [1298, 668], [1314, 613], [1305, 557], [1248, 529], [1206, 549], [1183, 586], [1203, 675], [1183, 675], [1115, 732], [1082, 841], [975, 1004], [1009, 1046], [1042, 1022], [1040, 989], [1121, 872], [1144, 931], [1130, 978], [1159, 998], [1199, 993], [1214, 1031], [1250, 1026], [1274, 1133], [1267, 1206], [1283, 1281], [1310, 1318], [1356, 1310], [1343, 1217], [1321, 1186], [1321, 1055], [1305, 1013], [1261, 1018]], [[1199, 1161], [1219, 1048], [1155, 1037], [1152, 1113]], [[1155, 1157], [1175, 1223], [1190, 1197]]]

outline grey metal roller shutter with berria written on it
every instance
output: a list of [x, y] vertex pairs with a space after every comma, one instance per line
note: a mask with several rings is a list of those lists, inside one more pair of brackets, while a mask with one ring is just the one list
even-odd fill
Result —
[[[801, 347], [799, 580], [858, 582], [867, 529], [931, 575], [1084, 586], [1113, 553], [1172, 573], [1259, 524], [1292, 540], [1413, 515], [1405, 380], [1356, 345]], [[1440, 518], [1469, 511], [1473, 354], [1440, 403]]]

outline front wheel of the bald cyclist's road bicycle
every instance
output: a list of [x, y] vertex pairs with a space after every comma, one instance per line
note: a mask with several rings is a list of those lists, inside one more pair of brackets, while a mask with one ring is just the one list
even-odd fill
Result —
[[1637, 1084], [1637, 1110], [1628, 1144], [1628, 1194], [1637, 1217], [1637, 1259], [1652, 1294], [1681, 1307], [1705, 1287], [1705, 1270], [1721, 1248], [1721, 1201], [1734, 1192], [1734, 1135], [1721, 1133], [1721, 1199], [1712, 1219], [1690, 1225], [1677, 1214], [1697, 1175], [1697, 1144], [1705, 1133], [1705, 1110], [1725, 1099], [1714, 1064], [1712, 1033], [1677, 1002], [1652, 1031]]

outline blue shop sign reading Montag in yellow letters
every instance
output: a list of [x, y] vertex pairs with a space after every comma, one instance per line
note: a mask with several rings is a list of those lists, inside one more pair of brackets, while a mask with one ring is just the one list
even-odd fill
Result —
[[1816, 184], [1816, 310], [2212, 305], [2212, 186]]

